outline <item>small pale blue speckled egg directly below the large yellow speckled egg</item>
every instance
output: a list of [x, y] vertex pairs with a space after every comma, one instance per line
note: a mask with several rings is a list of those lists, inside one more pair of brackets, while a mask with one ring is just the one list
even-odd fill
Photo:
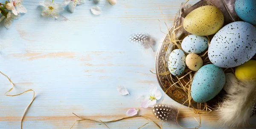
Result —
[[186, 36], [181, 43], [181, 47], [186, 53], [195, 53], [199, 54], [204, 52], [208, 47], [208, 39], [204, 36], [198, 35], [188, 35]]

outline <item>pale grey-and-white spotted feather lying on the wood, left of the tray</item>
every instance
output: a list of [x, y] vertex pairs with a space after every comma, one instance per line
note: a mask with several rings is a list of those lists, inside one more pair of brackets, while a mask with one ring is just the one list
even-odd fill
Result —
[[128, 40], [131, 43], [137, 43], [143, 46], [145, 49], [148, 49], [151, 47], [151, 49], [154, 51], [152, 46], [155, 44], [155, 40], [149, 34], [145, 34], [145, 33], [131, 34]]

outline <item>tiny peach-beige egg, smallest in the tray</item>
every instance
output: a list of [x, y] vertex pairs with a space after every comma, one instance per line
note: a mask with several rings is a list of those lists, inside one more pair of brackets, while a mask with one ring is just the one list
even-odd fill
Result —
[[199, 55], [191, 53], [186, 56], [186, 65], [189, 69], [198, 71], [203, 66], [203, 60]]

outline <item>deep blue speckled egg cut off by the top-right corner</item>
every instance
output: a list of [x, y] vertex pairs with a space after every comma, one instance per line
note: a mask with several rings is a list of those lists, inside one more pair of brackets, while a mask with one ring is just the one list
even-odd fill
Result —
[[235, 11], [242, 20], [256, 25], [256, 0], [236, 0]]

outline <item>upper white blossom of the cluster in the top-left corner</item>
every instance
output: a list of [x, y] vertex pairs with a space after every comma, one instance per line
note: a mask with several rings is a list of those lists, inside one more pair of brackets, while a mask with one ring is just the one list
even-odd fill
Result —
[[17, 15], [18, 13], [26, 13], [26, 8], [22, 5], [23, 0], [9, 0], [10, 3], [13, 4], [14, 8], [12, 9], [12, 13]]

